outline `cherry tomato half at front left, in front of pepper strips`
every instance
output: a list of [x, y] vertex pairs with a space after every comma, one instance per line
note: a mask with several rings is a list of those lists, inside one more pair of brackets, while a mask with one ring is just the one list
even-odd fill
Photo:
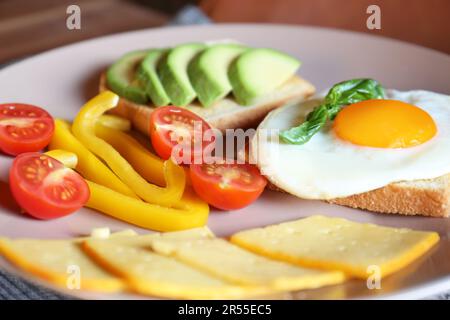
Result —
[[44, 220], [78, 210], [90, 195], [86, 181], [78, 173], [37, 152], [14, 159], [9, 183], [17, 203], [31, 216]]

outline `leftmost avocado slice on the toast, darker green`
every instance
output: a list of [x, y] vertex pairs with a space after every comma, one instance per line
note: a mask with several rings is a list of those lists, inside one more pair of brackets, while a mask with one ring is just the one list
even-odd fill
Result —
[[127, 53], [114, 62], [106, 72], [106, 82], [112, 91], [139, 104], [148, 102], [147, 93], [135, 76], [136, 69], [146, 54], [147, 51]]

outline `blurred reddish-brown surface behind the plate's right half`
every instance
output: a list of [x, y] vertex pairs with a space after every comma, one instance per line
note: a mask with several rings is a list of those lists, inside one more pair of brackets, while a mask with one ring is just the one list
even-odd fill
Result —
[[[366, 9], [381, 8], [381, 30], [366, 27]], [[324, 26], [379, 34], [450, 53], [450, 0], [203, 0], [216, 22]], [[357, 44], [355, 44], [357, 45]]]

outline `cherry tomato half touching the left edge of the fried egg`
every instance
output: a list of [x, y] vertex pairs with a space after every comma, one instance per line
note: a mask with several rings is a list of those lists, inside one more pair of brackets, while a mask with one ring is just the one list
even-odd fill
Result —
[[267, 184], [258, 168], [250, 164], [191, 164], [190, 175], [199, 197], [223, 210], [248, 206]]

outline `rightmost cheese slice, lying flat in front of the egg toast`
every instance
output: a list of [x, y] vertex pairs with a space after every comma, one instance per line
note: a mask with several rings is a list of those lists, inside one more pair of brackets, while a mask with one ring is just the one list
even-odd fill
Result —
[[273, 259], [365, 279], [373, 270], [386, 276], [407, 266], [436, 244], [439, 235], [312, 216], [238, 232], [231, 241]]

